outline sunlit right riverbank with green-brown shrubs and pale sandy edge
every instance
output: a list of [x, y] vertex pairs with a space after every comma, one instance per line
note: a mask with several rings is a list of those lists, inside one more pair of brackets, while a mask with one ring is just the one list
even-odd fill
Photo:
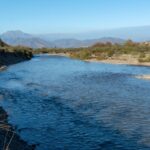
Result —
[[124, 44], [96, 43], [80, 48], [41, 48], [35, 54], [67, 56], [89, 62], [150, 66], [150, 46], [128, 40]]

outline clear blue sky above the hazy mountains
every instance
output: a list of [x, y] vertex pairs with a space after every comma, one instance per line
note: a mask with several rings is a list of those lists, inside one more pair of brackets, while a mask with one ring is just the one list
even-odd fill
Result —
[[76, 33], [150, 25], [150, 0], [0, 0], [0, 33]]

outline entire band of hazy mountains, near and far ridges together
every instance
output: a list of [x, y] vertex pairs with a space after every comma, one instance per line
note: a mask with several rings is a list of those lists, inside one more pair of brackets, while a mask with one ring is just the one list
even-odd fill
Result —
[[32, 35], [18, 30], [5, 32], [0, 35], [0, 38], [10, 45], [32, 48], [76, 48], [91, 46], [97, 42], [123, 43], [127, 39], [140, 42], [150, 41], [150, 26], [117, 28], [78, 34]]

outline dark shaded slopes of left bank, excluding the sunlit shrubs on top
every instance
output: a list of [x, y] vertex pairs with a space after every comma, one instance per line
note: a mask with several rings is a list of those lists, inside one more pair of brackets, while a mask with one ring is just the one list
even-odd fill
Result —
[[[32, 58], [32, 57], [31, 57]], [[6, 52], [3, 55], [0, 52], [0, 73], [7, 69], [9, 65], [17, 64], [31, 59], [25, 55], [17, 55], [15, 53]], [[3, 95], [0, 94], [0, 100]], [[8, 114], [0, 106], [0, 149], [4, 150], [35, 150], [36, 145], [29, 145], [21, 139], [18, 133], [15, 132], [13, 125], [8, 123]]]

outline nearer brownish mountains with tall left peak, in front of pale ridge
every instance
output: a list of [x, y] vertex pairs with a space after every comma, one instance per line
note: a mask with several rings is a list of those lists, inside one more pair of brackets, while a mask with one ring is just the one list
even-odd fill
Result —
[[[47, 36], [47, 35], [46, 35]], [[46, 36], [31, 35], [22, 31], [8, 31], [0, 35], [0, 38], [10, 45], [21, 45], [32, 48], [77, 48], [91, 46], [97, 42], [111, 42], [111, 43], [122, 43], [124, 40], [119, 38], [99, 38], [99, 39], [88, 39], [88, 40], [77, 40], [73, 38], [66, 38], [62, 36], [61, 39], [53, 40], [46, 39]], [[60, 36], [59, 36], [60, 37]]]

